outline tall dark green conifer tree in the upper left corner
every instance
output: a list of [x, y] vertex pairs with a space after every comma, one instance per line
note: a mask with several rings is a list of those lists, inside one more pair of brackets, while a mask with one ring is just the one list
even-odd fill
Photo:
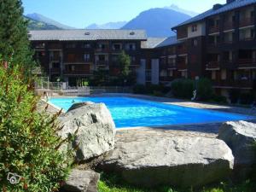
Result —
[[22, 64], [26, 73], [30, 73], [35, 62], [21, 5], [21, 0], [0, 1], [0, 55], [4, 61]]

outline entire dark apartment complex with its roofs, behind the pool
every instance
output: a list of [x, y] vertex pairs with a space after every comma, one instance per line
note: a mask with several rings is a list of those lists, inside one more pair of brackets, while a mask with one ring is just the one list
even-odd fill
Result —
[[131, 56], [137, 84], [212, 79], [216, 92], [256, 90], [256, 0], [227, 0], [172, 27], [176, 37], [148, 38], [142, 30], [32, 31], [32, 47], [45, 72], [69, 84], [99, 67], [118, 70], [121, 50]]

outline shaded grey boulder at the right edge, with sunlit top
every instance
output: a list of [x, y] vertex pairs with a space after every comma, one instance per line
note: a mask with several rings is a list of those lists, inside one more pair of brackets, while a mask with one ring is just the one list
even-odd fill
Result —
[[256, 166], [256, 124], [246, 121], [224, 123], [218, 133], [235, 157], [234, 176], [246, 178]]

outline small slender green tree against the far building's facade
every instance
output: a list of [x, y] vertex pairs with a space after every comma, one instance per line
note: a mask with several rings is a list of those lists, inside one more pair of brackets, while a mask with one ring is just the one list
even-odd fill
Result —
[[125, 54], [125, 51], [122, 51], [122, 53], [119, 55], [118, 64], [119, 64], [119, 72], [120, 72], [119, 78], [121, 80], [127, 81], [131, 73], [130, 71], [131, 58], [129, 55]]

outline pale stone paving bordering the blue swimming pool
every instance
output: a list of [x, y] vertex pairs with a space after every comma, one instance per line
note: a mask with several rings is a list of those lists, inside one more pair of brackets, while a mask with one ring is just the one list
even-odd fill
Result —
[[[177, 105], [181, 107], [187, 108], [201, 108], [201, 109], [208, 109], [208, 110], [215, 110], [218, 112], [225, 112], [225, 113], [236, 113], [236, 114], [243, 114], [248, 115], [251, 117], [255, 117], [253, 119], [247, 119], [249, 122], [256, 122], [256, 111], [254, 113], [250, 113], [249, 108], [240, 108], [240, 107], [232, 107], [232, 106], [224, 106], [212, 103], [204, 103], [204, 102], [189, 102], [175, 98], [166, 98], [166, 97], [158, 97], [158, 96], [144, 96], [144, 95], [136, 95], [136, 94], [96, 94], [90, 96], [53, 96], [52, 98], [76, 98], [76, 97], [107, 97], [107, 96], [123, 96], [123, 97], [131, 97], [137, 99], [144, 99], [152, 102], [161, 102], [169, 105]], [[55, 113], [60, 111], [61, 108], [56, 107], [55, 105], [48, 103], [51, 108], [55, 108]], [[54, 110], [54, 109], [51, 109]], [[210, 123], [198, 123], [198, 124], [184, 124], [184, 125], [161, 125], [161, 126], [138, 126], [138, 127], [124, 127], [124, 128], [117, 128], [116, 131], [134, 131], [134, 130], [148, 130], [148, 129], [157, 129], [157, 130], [170, 130], [170, 131], [195, 131], [195, 132], [204, 132], [204, 133], [212, 133], [217, 134], [218, 128], [222, 125], [223, 122], [210, 122]]]

